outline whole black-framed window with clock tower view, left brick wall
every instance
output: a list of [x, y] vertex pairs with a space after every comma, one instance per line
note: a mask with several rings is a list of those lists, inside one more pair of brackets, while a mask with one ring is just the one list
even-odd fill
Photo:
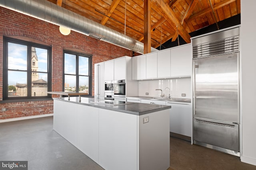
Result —
[[49, 98], [51, 47], [4, 37], [3, 99]]

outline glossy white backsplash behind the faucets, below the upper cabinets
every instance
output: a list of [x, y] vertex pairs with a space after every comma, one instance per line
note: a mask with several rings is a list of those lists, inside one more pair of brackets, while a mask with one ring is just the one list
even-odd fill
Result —
[[[140, 80], [139, 96], [160, 97], [161, 89], [165, 96], [170, 95], [171, 98], [191, 98], [191, 78], [174, 78], [174, 79], [161, 79], [161, 80]], [[168, 88], [166, 88], [168, 87]], [[148, 93], [148, 95], [146, 95]], [[186, 94], [186, 96], [182, 96]]]

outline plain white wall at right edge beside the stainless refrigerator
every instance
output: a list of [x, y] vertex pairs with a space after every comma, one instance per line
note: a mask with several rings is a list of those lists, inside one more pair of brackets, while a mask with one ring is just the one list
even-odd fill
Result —
[[241, 161], [256, 165], [256, 1], [241, 0]]

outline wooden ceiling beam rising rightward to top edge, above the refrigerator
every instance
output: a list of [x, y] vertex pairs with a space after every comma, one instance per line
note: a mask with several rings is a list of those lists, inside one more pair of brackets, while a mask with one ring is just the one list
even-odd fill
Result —
[[[236, 0], [224, 0], [224, 1], [221, 1], [217, 4], [214, 4], [213, 10], [217, 10], [219, 8], [222, 8], [223, 6], [228, 5], [228, 4], [230, 4], [231, 2], [234, 2], [234, 1], [236, 1]], [[200, 16], [204, 16], [208, 12], [212, 12], [212, 7], [206, 8], [205, 10], [202, 10], [202, 11], [198, 12], [197, 14], [194, 14], [194, 15], [190, 16], [188, 18], [188, 22], [190, 22], [190, 21], [192, 21], [192, 20], [194, 20], [194, 19], [196, 19]]]

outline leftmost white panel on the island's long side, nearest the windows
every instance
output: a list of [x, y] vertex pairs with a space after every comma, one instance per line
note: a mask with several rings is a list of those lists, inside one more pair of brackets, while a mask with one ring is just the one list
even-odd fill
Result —
[[53, 106], [53, 130], [76, 146], [77, 104], [54, 100]]

